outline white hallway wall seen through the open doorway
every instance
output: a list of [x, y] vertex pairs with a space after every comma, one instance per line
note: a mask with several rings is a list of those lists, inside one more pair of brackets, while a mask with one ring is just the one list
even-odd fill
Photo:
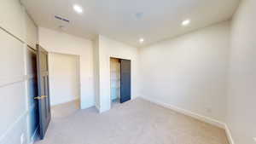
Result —
[[50, 105], [79, 99], [79, 56], [49, 53]]

